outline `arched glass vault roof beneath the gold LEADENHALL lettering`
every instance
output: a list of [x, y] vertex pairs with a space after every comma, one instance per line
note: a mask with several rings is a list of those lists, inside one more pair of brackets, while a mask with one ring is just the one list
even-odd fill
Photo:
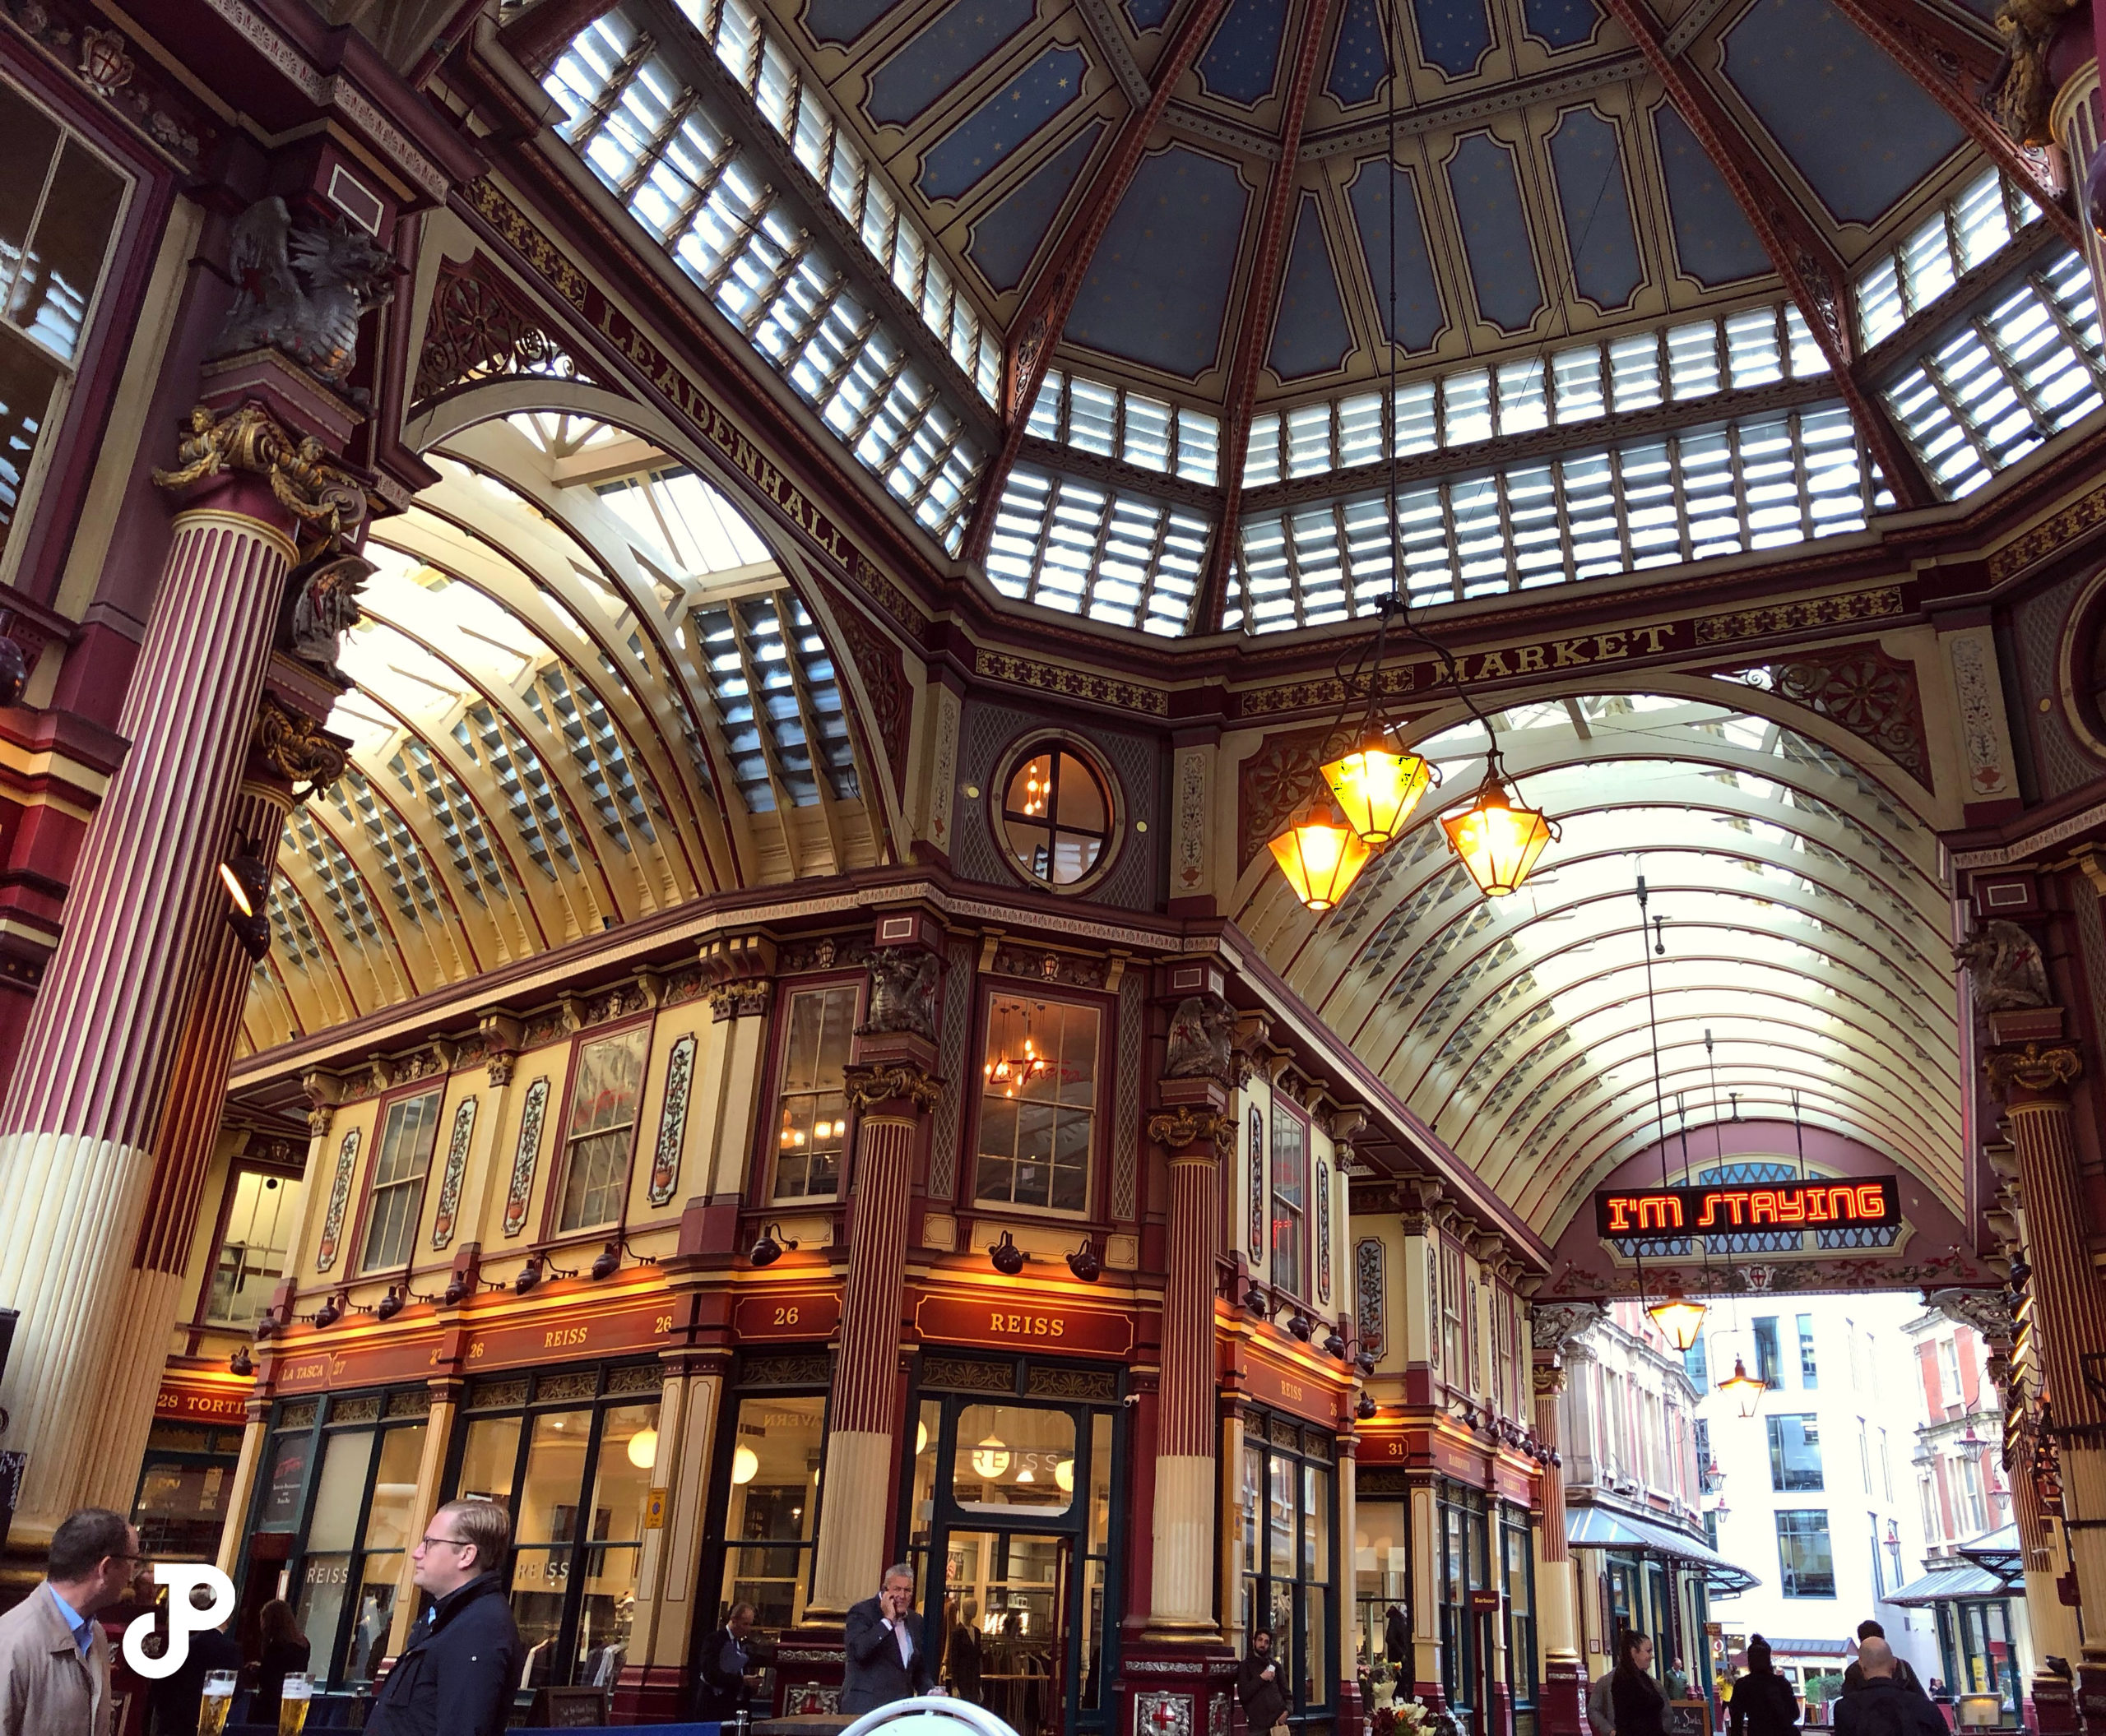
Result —
[[722, 494], [581, 417], [484, 423], [432, 463], [366, 543], [329, 718], [352, 768], [284, 829], [249, 1048], [878, 861], [821, 627]]

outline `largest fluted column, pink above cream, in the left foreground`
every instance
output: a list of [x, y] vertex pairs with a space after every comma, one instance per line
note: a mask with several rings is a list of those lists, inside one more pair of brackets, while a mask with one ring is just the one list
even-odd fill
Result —
[[[200, 968], [223, 947], [219, 861], [263, 690], [291, 513], [263, 476], [227, 478], [183, 511], [120, 732], [131, 751], [88, 831], [67, 924], [0, 1111], [0, 1300], [21, 1309], [4, 1404], [29, 1452], [17, 1534], [69, 1509], [128, 1507], [128, 1467], [95, 1454], [114, 1382], [110, 1334], [80, 1307], [107, 1300], [141, 1246], [154, 1140], [183, 1052]], [[225, 1058], [213, 1075], [223, 1092]], [[160, 1319], [162, 1336], [168, 1317]], [[141, 1406], [152, 1416], [160, 1357]]]

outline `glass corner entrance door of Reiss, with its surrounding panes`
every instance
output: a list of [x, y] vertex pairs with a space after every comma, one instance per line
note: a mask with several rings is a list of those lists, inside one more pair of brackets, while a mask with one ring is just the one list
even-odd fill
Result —
[[943, 1685], [1019, 1736], [1104, 1730], [1110, 1412], [925, 1397], [914, 1446], [912, 1561]]

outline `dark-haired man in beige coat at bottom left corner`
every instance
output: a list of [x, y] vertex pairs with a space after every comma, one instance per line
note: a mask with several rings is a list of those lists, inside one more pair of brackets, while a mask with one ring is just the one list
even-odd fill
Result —
[[105, 1507], [51, 1534], [44, 1582], [0, 1616], [0, 1736], [110, 1736], [110, 1639], [95, 1620], [124, 1601], [139, 1532]]

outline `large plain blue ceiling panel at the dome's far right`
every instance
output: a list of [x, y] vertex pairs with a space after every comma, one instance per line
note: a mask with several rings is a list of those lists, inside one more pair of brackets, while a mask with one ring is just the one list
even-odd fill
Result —
[[1965, 137], [1824, 0], [1756, 0], [1725, 36], [1725, 76], [1839, 223], [1876, 223]]

